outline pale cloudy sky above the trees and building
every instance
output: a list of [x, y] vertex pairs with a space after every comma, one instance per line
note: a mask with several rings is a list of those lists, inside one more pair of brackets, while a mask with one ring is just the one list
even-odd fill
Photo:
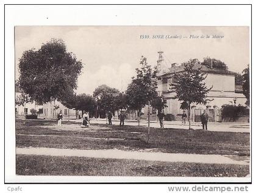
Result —
[[[166, 39], [168, 35], [182, 38]], [[209, 38], [205, 38], [207, 35]], [[212, 38], [213, 35], [222, 38]], [[167, 67], [193, 58], [202, 61], [209, 56], [226, 63], [229, 70], [241, 73], [250, 63], [249, 27], [16, 26], [16, 79], [23, 52], [40, 49], [51, 38], [63, 39], [67, 51], [82, 60], [84, 67], [78, 78], [77, 93], [92, 94], [101, 84], [126, 90], [136, 75], [135, 68], [140, 66], [141, 56], [155, 66], [160, 50], [164, 52]]]

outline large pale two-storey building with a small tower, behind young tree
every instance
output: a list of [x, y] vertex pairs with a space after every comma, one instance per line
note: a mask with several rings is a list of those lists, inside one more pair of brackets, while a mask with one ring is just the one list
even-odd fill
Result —
[[[176, 93], [170, 92], [170, 84], [174, 73], [179, 73], [184, 70], [183, 65], [176, 63], [166, 64], [163, 58], [163, 52], [158, 52], [157, 61], [157, 83], [158, 95], [162, 95], [167, 101], [167, 106], [164, 109], [166, 115], [172, 115], [176, 118], [180, 117], [183, 112], [180, 109], [182, 101], [174, 99]], [[235, 73], [223, 69], [216, 69], [213, 67], [203, 66], [201, 64], [195, 64], [195, 67], [201, 67], [201, 71], [207, 73], [205, 84], [208, 88], [212, 87], [212, 90], [208, 92], [208, 103], [204, 105], [191, 104], [191, 119], [193, 121], [200, 121], [200, 116], [203, 110], [207, 110], [210, 121], [220, 121], [220, 109], [223, 104], [241, 104], [244, 106], [246, 98], [241, 93], [241, 89], [237, 89], [235, 86]]]

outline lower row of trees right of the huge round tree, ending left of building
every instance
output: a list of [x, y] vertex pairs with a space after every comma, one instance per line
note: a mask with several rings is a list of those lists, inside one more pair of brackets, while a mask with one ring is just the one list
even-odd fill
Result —
[[115, 88], [101, 85], [90, 95], [69, 95], [62, 103], [77, 110], [94, 112], [95, 109], [114, 112], [119, 109], [137, 110], [138, 125], [140, 125], [141, 109], [146, 104], [161, 111], [166, 106], [166, 100], [157, 95], [156, 71], [147, 63], [145, 57], [141, 57], [140, 68], [136, 69], [137, 76], [132, 77], [125, 92], [119, 92]]

